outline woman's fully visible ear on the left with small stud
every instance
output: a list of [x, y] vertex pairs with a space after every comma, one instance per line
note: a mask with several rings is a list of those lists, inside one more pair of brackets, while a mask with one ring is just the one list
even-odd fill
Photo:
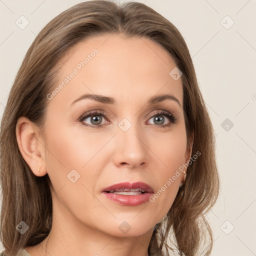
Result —
[[45, 175], [45, 147], [43, 145], [44, 141], [39, 136], [37, 126], [28, 118], [19, 117], [16, 123], [16, 139], [19, 151], [34, 175]]

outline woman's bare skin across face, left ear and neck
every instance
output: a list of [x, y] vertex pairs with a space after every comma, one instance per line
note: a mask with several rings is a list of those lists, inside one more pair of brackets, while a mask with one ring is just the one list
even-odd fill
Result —
[[[65, 256], [74, 251], [77, 256], [146, 256], [154, 225], [167, 214], [184, 181], [180, 172], [153, 202], [137, 206], [117, 204], [101, 193], [104, 187], [125, 181], [145, 182], [156, 192], [191, 156], [181, 79], [169, 75], [176, 65], [168, 52], [148, 38], [109, 36], [80, 42], [63, 58], [59, 83], [94, 48], [99, 50], [49, 100], [44, 134], [27, 118], [18, 119], [20, 152], [34, 175], [49, 175], [53, 197], [52, 229], [41, 243], [25, 248], [32, 256]], [[111, 96], [116, 103], [83, 99], [71, 105], [86, 93]], [[170, 99], [146, 103], [165, 93], [175, 96], [180, 105]], [[78, 120], [90, 110], [108, 115], [101, 116], [101, 127], [82, 124], [94, 124], [90, 117]], [[157, 110], [173, 114], [176, 123], [164, 116], [164, 124], [171, 125], [161, 127], [154, 120], [159, 114], [153, 117]], [[127, 131], [118, 127], [123, 118], [131, 123]], [[74, 183], [67, 178], [72, 169], [80, 174]], [[126, 233], [118, 228], [123, 221], [131, 227]]]

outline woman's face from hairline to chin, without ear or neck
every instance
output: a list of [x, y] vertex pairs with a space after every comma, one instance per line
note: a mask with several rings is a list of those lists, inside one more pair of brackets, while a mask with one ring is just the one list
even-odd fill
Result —
[[[56, 214], [112, 235], [140, 235], [167, 214], [183, 181], [177, 170], [189, 160], [182, 84], [157, 43], [109, 36], [80, 42], [63, 59], [47, 95], [44, 164]], [[171, 96], [150, 101], [164, 94]], [[153, 193], [102, 192], [121, 182], [143, 182]]]

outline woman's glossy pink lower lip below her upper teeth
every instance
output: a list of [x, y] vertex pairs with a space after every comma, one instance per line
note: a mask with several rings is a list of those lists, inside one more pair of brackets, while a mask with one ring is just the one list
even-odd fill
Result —
[[108, 193], [106, 191], [103, 192], [103, 194], [110, 200], [119, 203], [121, 205], [126, 206], [136, 206], [141, 203], [145, 203], [149, 200], [149, 197], [153, 193], [142, 193], [142, 194], [134, 194], [134, 195], [124, 195], [124, 194], [114, 194], [114, 193]]

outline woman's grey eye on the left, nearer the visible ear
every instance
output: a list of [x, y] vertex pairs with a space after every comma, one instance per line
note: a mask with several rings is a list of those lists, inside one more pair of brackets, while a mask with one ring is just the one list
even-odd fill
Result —
[[[82, 122], [82, 124], [87, 126], [100, 127], [102, 125], [102, 120], [104, 120], [106, 117], [107, 115], [104, 114], [103, 111], [95, 110], [82, 115], [79, 118], [79, 121]], [[90, 122], [90, 123], [87, 123], [87, 122]], [[109, 122], [104, 121], [104, 123], [109, 123]]]

